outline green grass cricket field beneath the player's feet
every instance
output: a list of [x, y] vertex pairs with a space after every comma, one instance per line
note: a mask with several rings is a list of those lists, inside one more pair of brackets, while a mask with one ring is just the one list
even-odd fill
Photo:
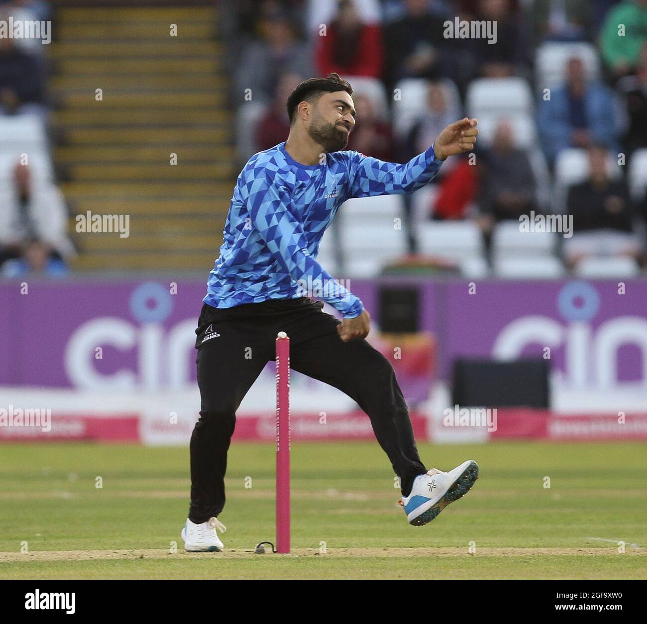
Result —
[[0, 579], [647, 577], [647, 444], [420, 451], [429, 468], [472, 458], [481, 470], [464, 499], [416, 528], [377, 443], [293, 444], [294, 552], [256, 555], [274, 539], [274, 447], [234, 444], [225, 552], [188, 554], [188, 449], [5, 444]]

